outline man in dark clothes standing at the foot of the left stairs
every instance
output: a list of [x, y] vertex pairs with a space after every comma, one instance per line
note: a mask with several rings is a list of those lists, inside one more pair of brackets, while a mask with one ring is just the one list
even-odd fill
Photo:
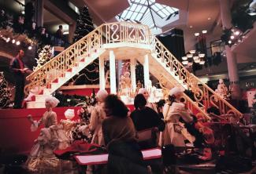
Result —
[[20, 49], [18, 55], [13, 58], [10, 63], [10, 69], [13, 71], [15, 79], [15, 98], [13, 108], [21, 108], [21, 103], [24, 98], [24, 84], [25, 84], [25, 73], [28, 73], [28, 68], [24, 67], [22, 58], [24, 57], [24, 50]]

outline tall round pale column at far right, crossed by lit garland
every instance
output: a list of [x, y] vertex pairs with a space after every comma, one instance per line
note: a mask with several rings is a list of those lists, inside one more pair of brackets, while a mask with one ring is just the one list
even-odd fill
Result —
[[[223, 29], [232, 27], [232, 16], [231, 16], [231, 6], [229, 0], [220, 0], [221, 5], [221, 20]], [[225, 50], [227, 53], [227, 63], [228, 63], [228, 77], [230, 82], [230, 89], [232, 90], [232, 99], [239, 99], [240, 89], [239, 89], [239, 75], [237, 71], [236, 54], [232, 53], [232, 50], [228, 45], [225, 45]]]

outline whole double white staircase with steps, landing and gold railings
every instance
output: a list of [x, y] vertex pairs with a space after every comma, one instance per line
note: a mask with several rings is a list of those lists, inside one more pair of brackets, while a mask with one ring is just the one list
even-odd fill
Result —
[[209, 118], [206, 110], [214, 106], [221, 114], [242, 116], [228, 101], [187, 71], [158, 38], [150, 33], [149, 27], [125, 22], [102, 24], [30, 74], [27, 77], [30, 83], [25, 86], [26, 94], [38, 86], [46, 86], [46, 89], [35, 96], [35, 101], [28, 102], [27, 107], [45, 107], [46, 95], [60, 88], [99, 56], [106, 56], [110, 50], [121, 56], [135, 55], [140, 63], [143, 63], [143, 56], [148, 55], [150, 73], [158, 78], [165, 91], [178, 85], [194, 92], [193, 99], [186, 95], [184, 99], [191, 111], [195, 111], [197, 115]]

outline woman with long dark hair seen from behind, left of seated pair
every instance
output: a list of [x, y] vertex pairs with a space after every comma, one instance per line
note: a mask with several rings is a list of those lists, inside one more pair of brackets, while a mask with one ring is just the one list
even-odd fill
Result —
[[107, 172], [148, 173], [135, 140], [135, 128], [132, 119], [128, 117], [128, 108], [116, 95], [109, 95], [104, 110], [106, 119], [102, 122], [102, 132], [109, 152]]

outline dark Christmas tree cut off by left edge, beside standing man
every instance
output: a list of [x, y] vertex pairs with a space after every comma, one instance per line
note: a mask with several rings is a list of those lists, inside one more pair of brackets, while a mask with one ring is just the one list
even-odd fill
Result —
[[8, 82], [6, 82], [3, 72], [0, 72], [0, 108], [4, 108], [9, 104], [10, 97]]

